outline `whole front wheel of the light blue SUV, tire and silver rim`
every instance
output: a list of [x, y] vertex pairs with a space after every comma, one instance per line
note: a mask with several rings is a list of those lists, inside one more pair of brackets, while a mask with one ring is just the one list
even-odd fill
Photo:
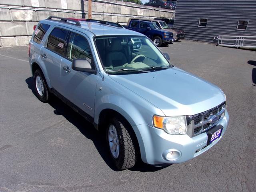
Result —
[[112, 118], [106, 128], [110, 156], [118, 170], [132, 168], [137, 160], [135, 138], [131, 129], [121, 116]]

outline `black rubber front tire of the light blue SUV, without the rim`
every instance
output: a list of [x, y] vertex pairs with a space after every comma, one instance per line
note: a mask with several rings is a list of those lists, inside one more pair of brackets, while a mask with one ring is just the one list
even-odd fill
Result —
[[[117, 158], [114, 158], [110, 150], [108, 132], [111, 125], [114, 125], [118, 134], [120, 150]], [[136, 164], [138, 157], [136, 138], [132, 131], [132, 127], [122, 116], [115, 116], [110, 120], [106, 128], [106, 141], [111, 159], [118, 170], [132, 168]]]

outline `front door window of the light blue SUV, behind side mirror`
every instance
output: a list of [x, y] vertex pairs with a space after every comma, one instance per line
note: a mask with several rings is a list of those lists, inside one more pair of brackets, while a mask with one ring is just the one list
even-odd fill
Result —
[[86, 38], [72, 33], [68, 43], [67, 57], [70, 59], [86, 59], [91, 62], [92, 52]]

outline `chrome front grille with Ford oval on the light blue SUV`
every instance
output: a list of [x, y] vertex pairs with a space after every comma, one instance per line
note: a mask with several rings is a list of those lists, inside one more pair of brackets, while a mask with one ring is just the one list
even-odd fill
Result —
[[[222, 104], [200, 114], [187, 116], [188, 130], [190, 130], [188, 135], [193, 137], [212, 128], [223, 118], [222, 114], [225, 113], [225, 110], [226, 102], [223, 102]], [[217, 118], [217, 120], [215, 122], [211, 122], [211, 117], [214, 115], [216, 115], [215, 118]]]

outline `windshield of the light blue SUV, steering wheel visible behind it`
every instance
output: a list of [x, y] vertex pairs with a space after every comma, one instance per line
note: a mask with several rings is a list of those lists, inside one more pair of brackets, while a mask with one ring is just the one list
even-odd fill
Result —
[[172, 67], [158, 48], [143, 36], [100, 36], [95, 38], [95, 42], [108, 73]]

